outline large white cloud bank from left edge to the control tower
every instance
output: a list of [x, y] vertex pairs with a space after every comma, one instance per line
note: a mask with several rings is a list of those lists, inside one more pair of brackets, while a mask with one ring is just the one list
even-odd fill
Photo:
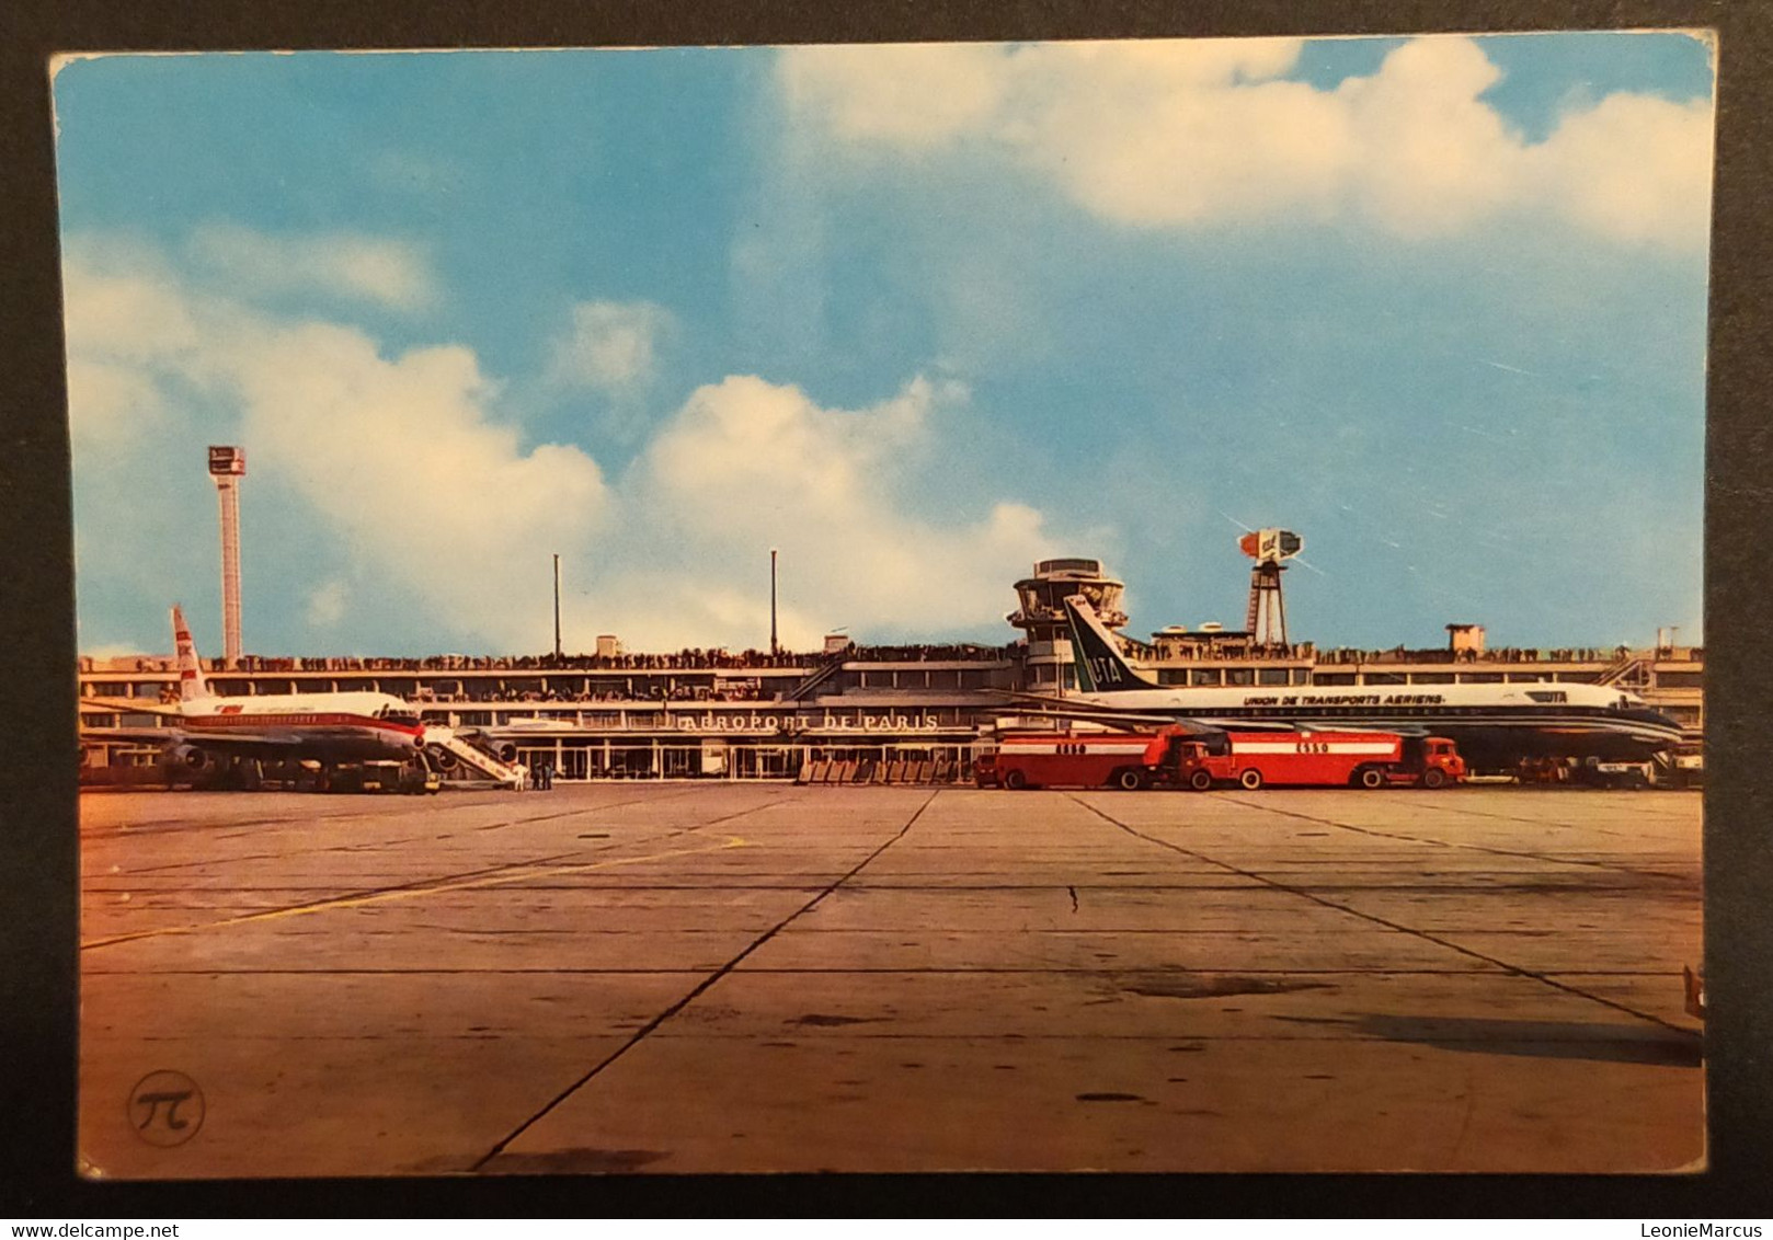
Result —
[[[791, 647], [840, 625], [858, 639], [991, 632], [1009, 583], [1058, 549], [1041, 512], [1011, 496], [970, 510], [950, 498], [957, 519], [927, 510], [920, 469], [941, 450], [943, 415], [968, 399], [959, 384], [915, 379], [846, 411], [730, 376], [672, 413], [612, 487], [580, 448], [528, 446], [500, 422], [500, 388], [463, 345], [385, 356], [356, 328], [268, 314], [78, 239], [64, 280], [71, 367], [87, 374], [76, 425], [106, 425], [129, 393], [204, 393], [177, 452], [211, 436], [245, 445], [248, 485], [294, 496], [344, 544], [349, 592], [342, 579], [261, 586], [287, 592], [284, 606], [316, 627], [385, 581], [420, 601], [438, 647], [541, 650], [548, 556], [560, 553], [569, 645], [612, 631], [633, 648], [764, 645], [780, 547]], [[90, 434], [80, 453], [80, 477], [117, 462], [156, 471], [140, 439]], [[122, 500], [85, 503], [112, 515]], [[167, 592], [193, 570], [168, 574], [163, 526], [105, 524], [128, 544], [119, 556], [149, 567], [140, 588]]]

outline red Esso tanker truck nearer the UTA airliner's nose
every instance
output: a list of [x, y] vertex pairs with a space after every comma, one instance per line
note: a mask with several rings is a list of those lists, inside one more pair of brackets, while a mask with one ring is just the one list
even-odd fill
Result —
[[1175, 783], [1206, 792], [1220, 783], [1255, 790], [1294, 787], [1440, 788], [1464, 779], [1464, 758], [1445, 737], [1395, 732], [1225, 732], [1223, 740], [1177, 737]]

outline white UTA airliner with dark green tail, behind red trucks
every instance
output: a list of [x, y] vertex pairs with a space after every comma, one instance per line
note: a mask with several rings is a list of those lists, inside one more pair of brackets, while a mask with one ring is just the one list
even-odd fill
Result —
[[[1039, 696], [1037, 712], [1108, 726], [1372, 728], [1449, 737], [1475, 771], [1525, 758], [1647, 762], [1672, 751], [1681, 725], [1624, 689], [1567, 684], [1168, 687], [1136, 671], [1089, 599], [1064, 601], [1078, 691]], [[1030, 694], [1021, 694], [1027, 700]]]

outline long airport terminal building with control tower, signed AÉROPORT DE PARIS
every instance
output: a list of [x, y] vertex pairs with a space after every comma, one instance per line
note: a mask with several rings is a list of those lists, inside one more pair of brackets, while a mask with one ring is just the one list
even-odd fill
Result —
[[[1016, 583], [1019, 631], [1002, 647], [863, 647], [832, 638], [808, 654], [681, 650], [629, 654], [599, 638], [585, 655], [305, 659], [243, 655], [206, 663], [220, 694], [372, 689], [404, 698], [427, 725], [493, 735], [521, 762], [560, 779], [793, 779], [817, 763], [867, 763], [881, 779], [965, 779], [973, 755], [1012, 726], [1055, 726], [1018, 714], [1014, 693], [1074, 686], [1060, 601], [1085, 595], [1103, 622], [1126, 624], [1122, 583], [1096, 560], [1046, 560]], [[1254, 606], [1254, 604], [1252, 604]], [[1252, 632], [1170, 627], [1124, 639], [1160, 686], [1450, 686], [1557, 682], [1628, 689], [1704, 737], [1704, 652], [1495, 650], [1475, 625], [1449, 625], [1443, 648], [1319, 650]], [[177, 696], [170, 657], [82, 659], [83, 698]], [[83, 707], [82, 730], [151, 726], [156, 716]], [[152, 765], [142, 740], [83, 739], [90, 781]]]

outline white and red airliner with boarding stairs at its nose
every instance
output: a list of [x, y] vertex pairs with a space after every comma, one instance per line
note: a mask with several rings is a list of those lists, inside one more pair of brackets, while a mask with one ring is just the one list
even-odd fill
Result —
[[387, 693], [284, 693], [223, 698], [209, 689], [184, 611], [172, 608], [177, 647], [177, 705], [82, 698], [82, 709], [158, 714], [165, 728], [83, 728], [96, 740], [163, 742], [168, 771], [193, 781], [222, 776], [236, 760], [317, 762], [323, 774], [349, 762], [415, 762], [426, 726]]

